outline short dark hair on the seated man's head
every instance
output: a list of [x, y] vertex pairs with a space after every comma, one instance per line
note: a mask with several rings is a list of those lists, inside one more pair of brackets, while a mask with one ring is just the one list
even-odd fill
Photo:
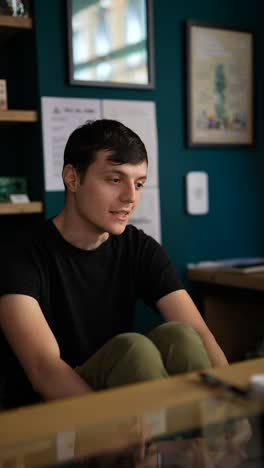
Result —
[[108, 150], [116, 164], [148, 162], [143, 141], [117, 120], [89, 120], [69, 136], [64, 150], [64, 166], [72, 164], [82, 175], [95, 161], [96, 153]]

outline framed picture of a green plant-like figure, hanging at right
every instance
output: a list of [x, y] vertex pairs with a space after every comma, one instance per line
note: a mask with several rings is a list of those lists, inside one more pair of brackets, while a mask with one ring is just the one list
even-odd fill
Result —
[[254, 144], [252, 32], [187, 21], [187, 144]]

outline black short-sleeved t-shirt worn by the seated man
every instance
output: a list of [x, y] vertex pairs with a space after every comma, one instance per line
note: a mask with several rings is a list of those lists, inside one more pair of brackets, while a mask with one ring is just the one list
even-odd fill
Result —
[[[87, 251], [68, 243], [49, 220], [7, 252], [2, 270], [0, 295], [34, 297], [62, 359], [72, 367], [113, 336], [132, 331], [139, 298], [155, 307], [161, 297], [182, 288], [163, 248], [131, 225], [120, 236], [110, 235], [100, 247]], [[0, 375], [11, 404], [38, 399], [3, 334], [0, 353]]]

